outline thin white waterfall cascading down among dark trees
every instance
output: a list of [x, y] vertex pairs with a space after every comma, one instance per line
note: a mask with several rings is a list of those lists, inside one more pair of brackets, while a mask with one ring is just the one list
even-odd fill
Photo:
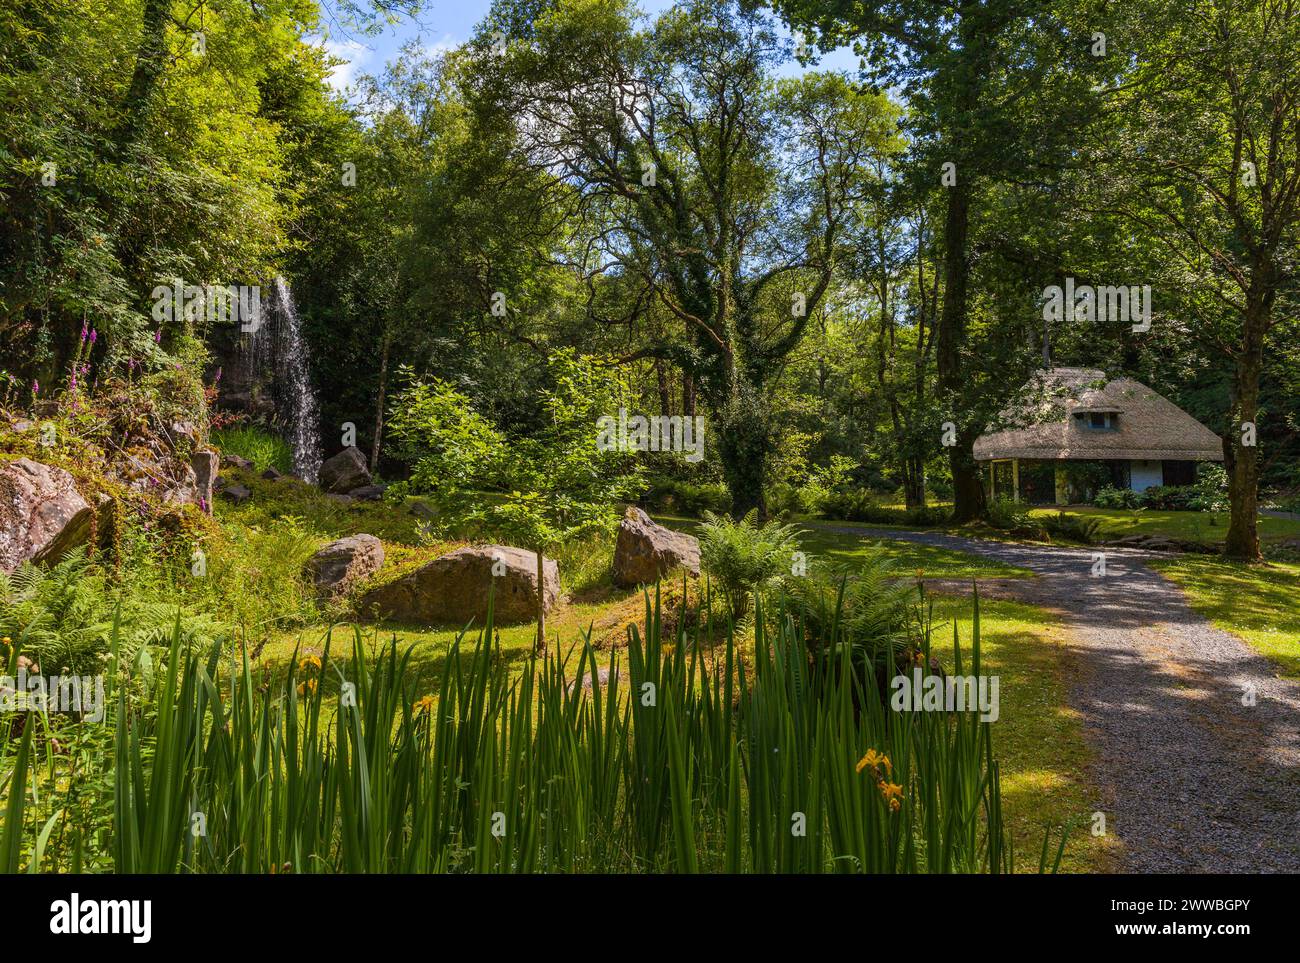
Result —
[[272, 324], [260, 324], [248, 334], [242, 360], [251, 383], [260, 382], [263, 372], [270, 373], [277, 416], [289, 422], [294, 474], [315, 483], [321, 468], [320, 405], [308, 377], [307, 343], [289, 282], [276, 278], [269, 300]]

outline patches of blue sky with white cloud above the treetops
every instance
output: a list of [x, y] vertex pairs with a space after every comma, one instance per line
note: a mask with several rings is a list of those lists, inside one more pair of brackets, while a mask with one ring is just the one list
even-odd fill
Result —
[[[646, 13], [658, 13], [671, 5], [672, 0], [641, 0], [641, 9]], [[326, 47], [347, 61], [335, 69], [332, 82], [335, 88], [343, 90], [360, 74], [380, 73], [408, 40], [416, 40], [430, 49], [456, 47], [469, 39], [474, 25], [488, 14], [490, 6], [490, 0], [428, 0], [416, 19], [403, 18], [377, 36], [347, 36], [330, 31]], [[328, 22], [328, 17], [324, 19]], [[855, 71], [857, 65], [853, 52], [841, 48], [822, 57], [818, 68]], [[793, 62], [784, 69], [792, 74], [802, 70]]]

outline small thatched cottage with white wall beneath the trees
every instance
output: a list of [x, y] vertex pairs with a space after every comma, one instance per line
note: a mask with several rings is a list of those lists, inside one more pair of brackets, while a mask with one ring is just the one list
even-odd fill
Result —
[[1069, 504], [1104, 485], [1190, 485], [1199, 461], [1223, 460], [1217, 434], [1132, 378], [1052, 368], [1037, 382], [1030, 394], [1041, 400], [1004, 412], [1013, 428], [975, 441], [991, 499]]

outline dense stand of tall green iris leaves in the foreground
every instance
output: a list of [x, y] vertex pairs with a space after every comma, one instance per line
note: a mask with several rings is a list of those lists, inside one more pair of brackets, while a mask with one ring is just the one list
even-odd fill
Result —
[[[768, 619], [759, 600], [751, 654], [707, 600], [671, 633], [662, 615], [658, 593], [647, 595], [645, 632], [629, 630], [602, 685], [586, 637], [512, 668], [489, 612], [481, 632], [450, 646], [428, 697], [410, 650], [370, 646], [359, 629], [342, 658], [329, 638], [318, 667], [295, 659], [276, 682], [243, 656], [186, 651], [178, 630], [150, 685], [136, 664], [114, 689], [116, 738], [96, 760], [112, 776], [112, 868], [1013, 868], [988, 723], [890, 711], [852, 646], [837, 645], [838, 626], [810, 646], [781, 602]], [[974, 615], [968, 655], [954, 633], [957, 673], [966, 659], [980, 671], [978, 602]], [[930, 646], [927, 630], [927, 665]], [[25, 817], [34, 739], [47, 736], [35, 717], [17, 745], [3, 736], [6, 872], [81, 864], [79, 837], [52, 851], [39, 838], [48, 825]], [[858, 771], [867, 750], [888, 756], [897, 808], [875, 769]], [[57, 780], [46, 784], [57, 791]], [[1044, 841], [1040, 871], [1060, 864], [1063, 845], [1052, 862]]]

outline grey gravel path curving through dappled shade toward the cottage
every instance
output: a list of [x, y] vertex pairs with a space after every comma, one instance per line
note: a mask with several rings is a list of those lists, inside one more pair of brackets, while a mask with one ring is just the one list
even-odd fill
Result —
[[[1082, 667], [1070, 699], [1096, 750], [1108, 830], [1123, 841], [1128, 871], [1300, 872], [1300, 684], [1277, 678], [1249, 646], [1196, 615], [1144, 564], [1162, 556], [818, 528], [970, 552], [1039, 576], [982, 580], [980, 594], [1062, 615]], [[1101, 551], [1106, 576], [1095, 577]], [[933, 587], [970, 591], [968, 582]], [[1247, 693], [1253, 706], [1242, 704]]]

